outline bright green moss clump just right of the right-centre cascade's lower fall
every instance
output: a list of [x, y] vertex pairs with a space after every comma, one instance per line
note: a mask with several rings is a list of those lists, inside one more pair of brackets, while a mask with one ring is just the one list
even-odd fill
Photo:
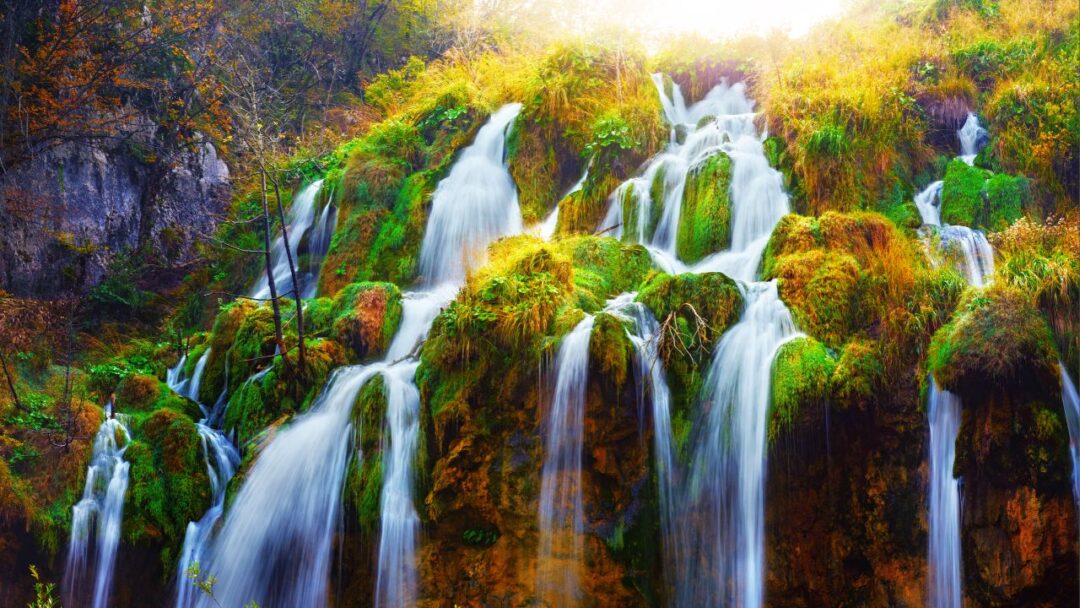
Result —
[[795, 424], [801, 407], [825, 403], [836, 365], [813, 338], [796, 338], [780, 348], [772, 362], [770, 442]]

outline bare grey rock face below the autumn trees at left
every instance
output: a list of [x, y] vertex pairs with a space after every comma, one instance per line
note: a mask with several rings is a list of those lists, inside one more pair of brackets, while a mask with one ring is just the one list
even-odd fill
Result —
[[[135, 143], [132, 143], [135, 141]], [[136, 249], [163, 269], [194, 257], [226, 210], [229, 168], [210, 143], [147, 163], [137, 139], [65, 144], [9, 172], [0, 189], [0, 288], [85, 292]]]

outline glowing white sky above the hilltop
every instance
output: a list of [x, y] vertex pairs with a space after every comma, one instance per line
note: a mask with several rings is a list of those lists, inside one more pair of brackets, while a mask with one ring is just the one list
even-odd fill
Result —
[[[802, 36], [839, 15], [847, 0], [599, 0], [595, 17], [630, 21], [646, 31], [694, 32], [707, 38], [768, 33]], [[596, 14], [602, 13], [602, 14]]]

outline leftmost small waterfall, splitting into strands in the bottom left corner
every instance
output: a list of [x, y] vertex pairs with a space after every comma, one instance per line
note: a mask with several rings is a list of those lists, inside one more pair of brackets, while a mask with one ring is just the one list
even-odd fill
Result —
[[[105, 406], [105, 421], [94, 436], [82, 500], [71, 510], [71, 541], [64, 570], [64, 595], [69, 606], [108, 606], [131, 467], [123, 456], [130, 441], [127, 428], [113, 416], [110, 401]], [[93, 586], [87, 587], [85, 576], [91, 558], [94, 577]]]

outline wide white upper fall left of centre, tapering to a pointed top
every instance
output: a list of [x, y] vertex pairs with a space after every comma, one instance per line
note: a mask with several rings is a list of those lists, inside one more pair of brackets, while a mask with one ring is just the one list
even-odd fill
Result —
[[521, 109], [508, 104], [491, 114], [435, 188], [420, 248], [420, 275], [429, 285], [460, 283], [467, 268], [484, 262], [490, 242], [522, 231], [517, 187], [504, 158], [507, 132]]

